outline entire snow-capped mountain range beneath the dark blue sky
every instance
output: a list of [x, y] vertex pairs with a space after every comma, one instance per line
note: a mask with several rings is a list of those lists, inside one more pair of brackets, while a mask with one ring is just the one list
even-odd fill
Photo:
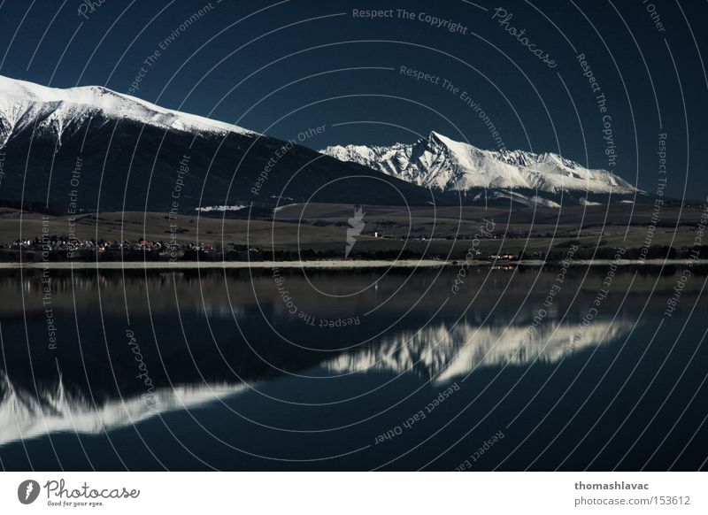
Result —
[[0, 204], [59, 214], [223, 211], [213, 206], [263, 214], [306, 202], [558, 207], [642, 193], [556, 154], [479, 150], [435, 132], [412, 144], [317, 152], [104, 87], [2, 76], [0, 153]]

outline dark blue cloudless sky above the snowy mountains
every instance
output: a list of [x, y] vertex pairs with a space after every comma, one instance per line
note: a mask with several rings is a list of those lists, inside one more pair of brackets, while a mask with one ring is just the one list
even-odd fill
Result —
[[[501, 141], [510, 150], [559, 152], [648, 191], [666, 133], [670, 194], [708, 195], [705, 2], [212, 0], [201, 16], [209, 3], [200, 0], [94, 4], [0, 3], [0, 74], [128, 93], [142, 66], [135, 96], [283, 139], [327, 126], [304, 142], [312, 148], [412, 142], [435, 130], [486, 149]], [[393, 11], [364, 19], [355, 9]], [[401, 66], [440, 80], [416, 81]], [[445, 80], [458, 91], [443, 88]]]

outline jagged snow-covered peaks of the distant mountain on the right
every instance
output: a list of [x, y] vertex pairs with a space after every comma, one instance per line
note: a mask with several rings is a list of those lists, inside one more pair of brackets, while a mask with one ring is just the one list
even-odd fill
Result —
[[338, 145], [320, 152], [419, 186], [442, 190], [538, 188], [549, 193], [566, 190], [615, 194], [631, 194], [636, 190], [610, 172], [589, 170], [558, 154], [480, 150], [435, 132], [413, 144]]

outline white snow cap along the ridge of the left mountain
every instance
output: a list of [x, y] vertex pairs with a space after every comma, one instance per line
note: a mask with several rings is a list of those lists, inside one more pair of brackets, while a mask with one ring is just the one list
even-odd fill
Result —
[[135, 96], [116, 93], [100, 86], [47, 88], [0, 75], [0, 142], [13, 132], [27, 127], [63, 134], [72, 122], [89, 119], [97, 113], [115, 119], [131, 119], [152, 126], [182, 131], [208, 131], [219, 134], [257, 135], [225, 122], [172, 111]]

